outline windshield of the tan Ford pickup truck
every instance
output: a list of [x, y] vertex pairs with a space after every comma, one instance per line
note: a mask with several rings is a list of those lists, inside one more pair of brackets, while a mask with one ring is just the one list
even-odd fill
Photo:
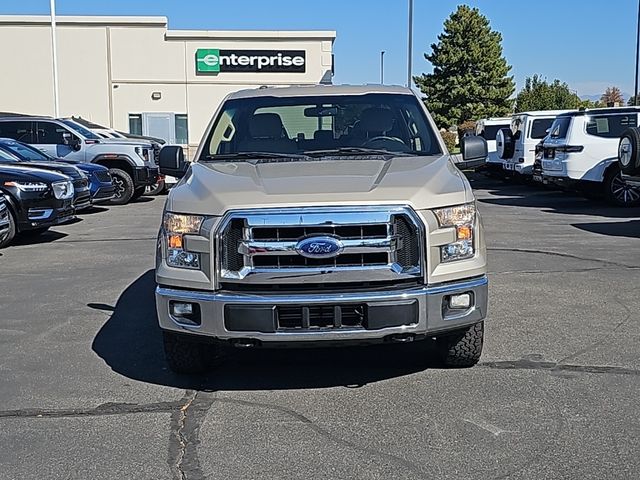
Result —
[[[442, 153], [413, 95], [256, 97], [227, 101], [202, 159], [247, 153], [366, 155]], [[245, 155], [243, 155], [245, 154]]]

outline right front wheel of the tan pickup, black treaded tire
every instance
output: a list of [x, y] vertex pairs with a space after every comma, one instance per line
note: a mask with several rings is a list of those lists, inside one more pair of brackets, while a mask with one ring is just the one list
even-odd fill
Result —
[[473, 367], [482, 354], [484, 322], [436, 338], [436, 349], [445, 367]]

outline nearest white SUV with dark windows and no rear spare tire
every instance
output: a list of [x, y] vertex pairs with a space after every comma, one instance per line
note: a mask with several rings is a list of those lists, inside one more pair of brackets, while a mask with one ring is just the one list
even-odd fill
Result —
[[586, 193], [604, 194], [612, 204], [640, 204], [640, 190], [622, 178], [620, 137], [638, 126], [640, 107], [601, 108], [559, 115], [544, 141], [543, 178]]

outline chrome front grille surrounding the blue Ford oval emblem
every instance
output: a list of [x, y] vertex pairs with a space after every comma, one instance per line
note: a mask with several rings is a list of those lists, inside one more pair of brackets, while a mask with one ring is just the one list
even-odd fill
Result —
[[[298, 242], [336, 239], [342, 250], [308, 258]], [[422, 224], [407, 207], [265, 209], [234, 212], [217, 235], [225, 288], [393, 282], [423, 275]]]

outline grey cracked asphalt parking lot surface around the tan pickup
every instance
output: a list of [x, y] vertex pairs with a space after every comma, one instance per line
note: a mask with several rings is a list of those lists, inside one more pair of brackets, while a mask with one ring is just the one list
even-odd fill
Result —
[[481, 364], [419, 344], [166, 367], [164, 199], [0, 252], [0, 478], [637, 478], [640, 209], [472, 178], [490, 259]]

